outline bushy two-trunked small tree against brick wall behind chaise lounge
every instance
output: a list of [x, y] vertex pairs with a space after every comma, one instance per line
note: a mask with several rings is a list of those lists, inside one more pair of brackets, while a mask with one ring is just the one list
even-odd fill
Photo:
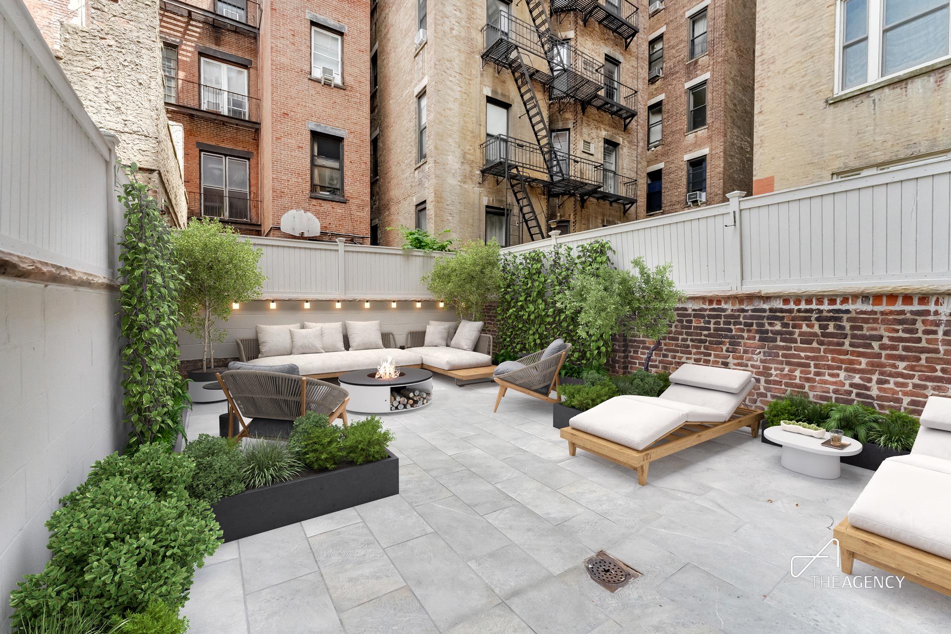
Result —
[[[565, 310], [576, 311], [578, 333], [590, 340], [614, 334], [628, 338], [654, 339], [644, 359], [650, 371], [650, 358], [670, 333], [677, 304], [684, 295], [670, 278], [670, 262], [651, 269], [643, 258], [631, 260], [631, 270], [608, 267], [580, 276], [569, 291], [559, 298]], [[601, 363], [607, 360], [607, 352]]]

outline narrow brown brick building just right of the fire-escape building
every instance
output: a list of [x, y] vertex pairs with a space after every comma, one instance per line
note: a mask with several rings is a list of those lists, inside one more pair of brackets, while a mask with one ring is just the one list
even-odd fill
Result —
[[661, 0], [649, 12], [646, 213], [750, 191], [755, 0]]

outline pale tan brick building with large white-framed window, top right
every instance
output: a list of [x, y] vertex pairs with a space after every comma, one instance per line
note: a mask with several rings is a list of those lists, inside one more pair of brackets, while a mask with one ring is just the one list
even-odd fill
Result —
[[753, 193], [947, 155], [948, 5], [761, 0]]

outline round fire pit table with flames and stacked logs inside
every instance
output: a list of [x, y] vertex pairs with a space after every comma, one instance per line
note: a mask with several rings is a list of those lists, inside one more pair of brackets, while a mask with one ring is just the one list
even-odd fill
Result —
[[433, 373], [429, 370], [400, 368], [397, 378], [377, 378], [376, 375], [376, 368], [340, 375], [340, 386], [350, 393], [348, 411], [410, 412], [432, 402]]

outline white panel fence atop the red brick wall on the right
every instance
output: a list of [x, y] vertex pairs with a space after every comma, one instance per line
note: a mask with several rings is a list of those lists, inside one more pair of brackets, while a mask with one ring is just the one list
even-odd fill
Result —
[[951, 160], [740, 198], [503, 249], [609, 240], [689, 295], [951, 287]]

